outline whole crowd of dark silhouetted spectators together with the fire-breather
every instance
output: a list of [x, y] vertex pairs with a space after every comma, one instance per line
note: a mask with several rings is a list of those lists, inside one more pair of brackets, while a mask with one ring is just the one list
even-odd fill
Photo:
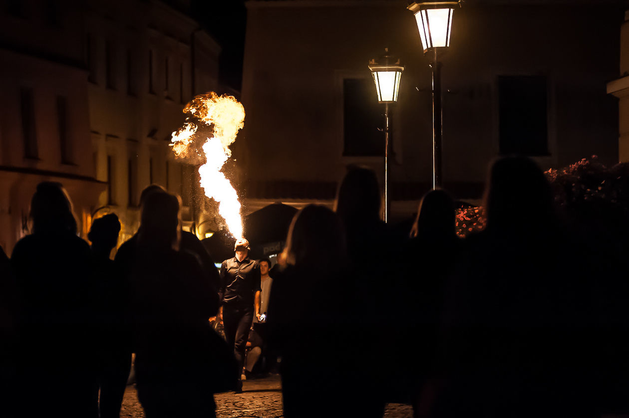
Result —
[[[375, 173], [350, 167], [334, 210], [292, 219], [265, 323], [284, 416], [629, 414], [627, 219], [564, 216], [525, 157], [491, 165], [486, 228], [465, 239], [445, 190], [406, 238], [381, 203]], [[132, 353], [147, 418], [215, 417], [214, 393], [242, 388], [243, 327], [262, 313], [247, 240], [219, 274], [179, 197], [150, 185], [140, 206], [111, 260], [115, 214], [90, 246], [62, 185], [36, 187], [30, 234], [0, 251], [3, 416], [119, 418]], [[229, 344], [208, 322], [223, 312]]]

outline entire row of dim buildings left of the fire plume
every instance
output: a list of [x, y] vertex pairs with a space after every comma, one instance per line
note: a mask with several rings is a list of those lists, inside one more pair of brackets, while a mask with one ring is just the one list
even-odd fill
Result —
[[[28, 233], [43, 180], [64, 184], [81, 234], [115, 212], [121, 241], [138, 227], [140, 190], [182, 195], [194, 222], [196, 168], [170, 134], [194, 95], [220, 91], [220, 47], [185, 1], [5, 2], [0, 9], [0, 245]], [[176, 4], [175, 4], [176, 3]]]

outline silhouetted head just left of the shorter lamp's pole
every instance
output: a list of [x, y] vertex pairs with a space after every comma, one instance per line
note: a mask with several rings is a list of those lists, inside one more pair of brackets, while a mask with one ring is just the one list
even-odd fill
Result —
[[335, 212], [345, 225], [380, 219], [380, 187], [374, 170], [352, 167], [338, 187]]

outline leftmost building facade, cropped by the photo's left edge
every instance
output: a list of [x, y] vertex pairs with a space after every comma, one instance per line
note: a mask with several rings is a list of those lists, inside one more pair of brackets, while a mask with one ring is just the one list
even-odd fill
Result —
[[91, 157], [80, 6], [6, 2], [0, 10], [0, 245], [9, 254], [28, 233], [39, 182], [64, 184], [83, 234], [105, 189]]

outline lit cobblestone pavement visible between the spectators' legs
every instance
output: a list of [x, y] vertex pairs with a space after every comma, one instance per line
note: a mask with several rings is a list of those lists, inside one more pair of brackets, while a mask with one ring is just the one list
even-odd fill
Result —
[[[279, 376], [243, 382], [243, 393], [219, 393], [216, 400], [218, 418], [279, 418], [282, 417], [282, 392]], [[388, 404], [386, 418], [410, 418], [409, 405]], [[135, 387], [128, 386], [120, 411], [121, 418], [144, 418]]]

